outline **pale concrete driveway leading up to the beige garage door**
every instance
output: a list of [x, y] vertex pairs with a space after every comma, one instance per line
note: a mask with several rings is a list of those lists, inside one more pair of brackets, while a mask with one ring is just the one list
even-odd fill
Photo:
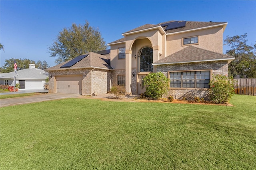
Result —
[[[12, 94], [14, 94], [14, 92], [12, 92]], [[73, 97], [79, 97], [79, 96], [81, 95], [66, 94], [66, 93], [44, 93], [40, 95], [33, 95], [33, 96], [26, 96], [26, 97], [0, 99], [0, 107], [22, 105], [26, 103], [36, 103], [41, 101], [50, 101], [50, 100], [65, 99], [65, 98], [73, 98]]]

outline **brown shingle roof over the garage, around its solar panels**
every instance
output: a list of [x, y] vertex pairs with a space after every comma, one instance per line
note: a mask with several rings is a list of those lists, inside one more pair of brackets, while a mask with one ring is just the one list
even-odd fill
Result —
[[78, 68], [86, 68], [86, 67], [98, 67], [101, 69], [113, 69], [110, 67], [110, 57], [105, 55], [100, 55], [97, 53], [89, 52], [87, 57], [78, 61], [76, 64], [72, 65], [68, 68], [60, 68], [62, 65], [68, 63], [72, 59], [65, 61], [64, 63], [60, 63], [53, 67], [46, 69], [46, 71], [58, 70], [58, 69], [78, 69]]

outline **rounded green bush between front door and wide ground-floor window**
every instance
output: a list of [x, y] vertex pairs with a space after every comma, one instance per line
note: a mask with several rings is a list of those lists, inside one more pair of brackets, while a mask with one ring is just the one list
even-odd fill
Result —
[[161, 72], [149, 73], [144, 77], [144, 85], [146, 86], [145, 97], [150, 99], [160, 99], [168, 88], [169, 79]]

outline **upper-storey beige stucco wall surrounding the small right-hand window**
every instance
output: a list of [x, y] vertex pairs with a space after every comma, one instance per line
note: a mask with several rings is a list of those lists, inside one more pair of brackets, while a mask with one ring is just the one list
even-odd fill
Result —
[[182, 46], [182, 38], [199, 36], [199, 44], [194, 45], [196, 47], [214, 51], [217, 53], [223, 53], [223, 28], [215, 27], [205, 30], [198, 30], [192, 32], [186, 32], [181, 34], [174, 34], [167, 36], [167, 54], [171, 55], [187, 46]]

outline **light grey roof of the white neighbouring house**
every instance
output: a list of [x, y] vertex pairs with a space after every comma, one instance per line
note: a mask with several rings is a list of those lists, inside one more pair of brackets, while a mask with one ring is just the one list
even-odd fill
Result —
[[[14, 75], [17, 79], [46, 79], [48, 73], [38, 68], [18, 70], [17, 74], [14, 71], [10, 73], [0, 73], [1, 79], [12, 79]], [[18, 76], [17, 76], [18, 75]]]

